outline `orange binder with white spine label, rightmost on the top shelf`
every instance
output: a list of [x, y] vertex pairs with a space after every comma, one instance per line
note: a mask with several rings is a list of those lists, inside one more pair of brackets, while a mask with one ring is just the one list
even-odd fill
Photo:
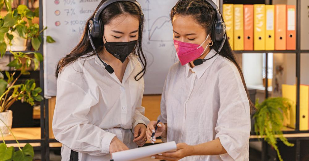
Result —
[[296, 50], [296, 7], [286, 5], [286, 50]]

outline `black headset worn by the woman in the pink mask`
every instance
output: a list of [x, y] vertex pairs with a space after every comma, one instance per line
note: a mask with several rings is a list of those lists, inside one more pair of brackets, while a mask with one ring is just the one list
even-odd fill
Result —
[[[181, 2], [183, 0], [179, 0], [176, 5]], [[210, 4], [210, 6], [212, 6], [212, 8], [214, 10], [216, 10], [217, 12], [217, 20], [216, 20], [216, 23], [214, 24], [215, 25], [215, 40], [216, 41], [221, 41], [221, 45], [217, 51], [217, 53], [214, 55], [216, 56], [221, 50], [222, 50], [222, 47], [224, 45], [224, 42], [225, 42], [225, 39], [226, 39], [226, 26], [225, 26], [225, 23], [223, 22], [222, 20], [222, 17], [221, 17], [221, 13], [218, 9], [218, 6], [212, 1], [212, 0], [204, 0], [206, 2], [208, 2]], [[194, 60], [193, 61], [193, 64], [194, 65], [201, 65], [203, 64], [203, 62], [205, 62], [206, 60], [210, 60], [211, 58], [213, 58], [214, 56], [208, 58], [208, 59], [197, 59], [197, 60]]]

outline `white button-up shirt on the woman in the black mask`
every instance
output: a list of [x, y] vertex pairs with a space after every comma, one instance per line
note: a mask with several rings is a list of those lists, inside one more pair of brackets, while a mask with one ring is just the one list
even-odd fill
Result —
[[62, 161], [70, 159], [71, 149], [79, 152], [79, 161], [109, 161], [115, 136], [129, 148], [138, 147], [131, 129], [149, 120], [141, 106], [144, 80], [134, 79], [142, 66], [137, 56], [128, 59], [122, 83], [97, 56], [80, 58], [62, 70], [53, 117], [53, 133], [63, 144]]

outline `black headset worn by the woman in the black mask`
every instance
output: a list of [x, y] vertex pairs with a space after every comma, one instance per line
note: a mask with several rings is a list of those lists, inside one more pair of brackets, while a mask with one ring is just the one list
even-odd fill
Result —
[[[101, 12], [110, 4], [115, 3], [115, 2], [131, 2], [133, 4], [135, 4], [139, 10], [141, 11], [141, 21], [139, 23], [139, 25], [141, 26], [144, 22], [144, 14], [142, 11], [142, 7], [141, 5], [136, 1], [136, 0], [107, 0], [105, 1], [100, 7], [99, 9], [95, 12], [95, 16], [93, 19], [89, 20], [88, 23], [88, 36], [89, 36], [89, 40], [91, 43], [91, 46], [93, 48], [93, 50], [95, 51], [95, 45], [93, 43], [92, 38], [102, 38], [103, 36], [103, 32], [104, 32], [104, 24], [102, 23], [102, 21], [99, 19], [99, 16], [101, 14]], [[114, 69], [106, 64], [98, 55], [98, 53], [95, 51], [95, 54], [98, 56], [99, 60], [104, 64], [105, 69], [109, 72], [109, 73], [113, 73]]]

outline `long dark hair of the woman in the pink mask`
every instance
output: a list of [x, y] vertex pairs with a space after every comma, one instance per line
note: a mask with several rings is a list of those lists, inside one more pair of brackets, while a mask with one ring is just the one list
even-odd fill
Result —
[[[215, 41], [215, 32], [212, 32], [212, 31], [215, 31], [214, 24], [217, 23], [216, 11], [212, 8], [210, 4], [208, 4], [208, 2], [206, 2], [205, 0], [183, 0], [172, 8], [171, 15], [170, 15], [171, 20], [173, 20], [173, 17], [176, 14], [183, 15], [183, 16], [192, 16], [196, 20], [197, 23], [201, 24], [201, 26], [205, 28], [206, 33], [211, 33], [211, 39], [214, 42], [214, 45], [211, 48], [214, 48], [216, 51], [218, 51], [218, 48], [221, 45], [221, 42]], [[235, 58], [235, 55], [231, 49], [228, 39], [225, 40], [223, 48], [221, 52], [219, 52], [218, 54], [230, 60], [237, 67], [239, 74], [241, 76], [241, 80], [243, 82], [243, 86], [247, 92], [248, 100], [250, 103], [250, 112], [251, 113], [254, 112], [255, 106], [250, 100], [250, 95], [247, 89], [247, 85], [243, 78], [243, 72]]]

